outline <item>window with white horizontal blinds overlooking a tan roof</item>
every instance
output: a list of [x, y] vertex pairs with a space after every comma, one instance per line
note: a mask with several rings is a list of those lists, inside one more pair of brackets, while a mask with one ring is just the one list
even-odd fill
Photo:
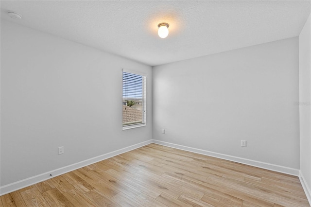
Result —
[[146, 125], [146, 76], [123, 70], [122, 126]]

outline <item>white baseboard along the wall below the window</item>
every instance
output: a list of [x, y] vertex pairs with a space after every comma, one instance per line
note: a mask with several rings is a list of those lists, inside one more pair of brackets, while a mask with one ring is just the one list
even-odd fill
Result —
[[134, 145], [129, 146], [129, 147], [122, 148], [120, 150], [116, 150], [116, 151], [113, 151], [110, 153], [106, 153], [104, 155], [99, 155], [99, 156], [96, 156], [96, 157], [93, 157], [90, 159], [86, 159], [84, 161], [74, 163], [74, 164], [71, 164], [71, 165], [50, 171], [50, 172], [38, 174], [38, 175], [35, 175], [33, 177], [29, 177], [29, 178], [26, 178], [26, 179], [23, 179], [23, 180], [14, 182], [14, 183], [10, 183], [10, 184], [5, 185], [5, 186], [1, 186], [0, 187], [0, 195], [4, 195], [4, 194], [10, 193], [10, 192], [13, 192], [15, 190], [23, 189], [25, 187], [34, 185], [36, 183], [48, 180], [51, 178], [50, 174], [52, 174], [52, 176], [55, 177], [55, 176], [58, 176], [58, 175], [61, 175], [64, 173], [68, 173], [70, 171], [74, 171], [74, 170], [77, 170], [79, 168], [85, 167], [87, 165], [91, 165], [93, 163], [102, 161], [104, 159], [108, 159], [110, 157], [120, 155], [122, 153], [126, 153], [128, 151], [137, 149], [139, 147], [143, 147], [143, 146], [150, 144], [150, 143], [152, 143], [152, 139], [140, 142], [138, 144], [134, 144]]

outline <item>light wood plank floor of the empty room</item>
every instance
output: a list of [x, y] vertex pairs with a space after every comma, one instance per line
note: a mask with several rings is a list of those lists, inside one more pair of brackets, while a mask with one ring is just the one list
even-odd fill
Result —
[[309, 207], [298, 177], [149, 144], [1, 196], [4, 207]]

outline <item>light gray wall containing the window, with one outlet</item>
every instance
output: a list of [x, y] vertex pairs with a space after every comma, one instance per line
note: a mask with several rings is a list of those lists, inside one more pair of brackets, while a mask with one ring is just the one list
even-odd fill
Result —
[[[147, 73], [146, 127], [122, 131], [122, 68]], [[151, 87], [149, 66], [1, 20], [1, 186], [152, 139]]]

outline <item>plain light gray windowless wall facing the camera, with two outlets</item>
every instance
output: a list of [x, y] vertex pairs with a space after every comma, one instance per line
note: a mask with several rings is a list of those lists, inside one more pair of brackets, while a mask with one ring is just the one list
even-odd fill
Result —
[[153, 138], [298, 171], [298, 81], [298, 37], [154, 67]]

